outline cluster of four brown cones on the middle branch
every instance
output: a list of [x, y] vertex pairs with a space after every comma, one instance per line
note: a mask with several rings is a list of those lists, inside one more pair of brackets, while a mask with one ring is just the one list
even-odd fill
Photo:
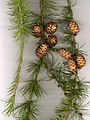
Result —
[[47, 39], [44, 43], [40, 44], [36, 49], [36, 56], [38, 58], [43, 58], [47, 53], [49, 48], [55, 46], [58, 42], [57, 37], [53, 35], [57, 30], [57, 24], [55, 22], [48, 22], [43, 28], [40, 25], [34, 25], [33, 31], [35, 37], [41, 37], [44, 31], [47, 34]]

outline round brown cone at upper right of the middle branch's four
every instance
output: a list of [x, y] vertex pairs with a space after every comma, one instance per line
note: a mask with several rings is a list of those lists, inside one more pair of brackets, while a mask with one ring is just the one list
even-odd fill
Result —
[[48, 22], [45, 26], [45, 31], [47, 34], [53, 34], [57, 30], [57, 23], [55, 22]]

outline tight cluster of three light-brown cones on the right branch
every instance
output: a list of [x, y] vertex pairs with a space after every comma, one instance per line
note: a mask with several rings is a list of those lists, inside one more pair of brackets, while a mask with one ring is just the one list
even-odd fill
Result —
[[59, 54], [67, 59], [67, 66], [71, 72], [77, 73], [77, 69], [81, 69], [86, 64], [86, 59], [81, 54], [72, 55], [72, 53], [66, 48], [60, 48]]

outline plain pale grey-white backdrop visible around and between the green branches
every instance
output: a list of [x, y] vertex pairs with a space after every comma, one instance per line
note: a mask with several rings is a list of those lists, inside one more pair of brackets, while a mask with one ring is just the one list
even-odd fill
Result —
[[[59, 0], [57, 1], [59, 2]], [[12, 32], [8, 30], [11, 24], [7, 14], [9, 11], [7, 2], [6, 0], [0, 1], [0, 120], [14, 120], [13, 117], [5, 117], [2, 112], [5, 105], [4, 100], [7, 98], [7, 88], [13, 80], [18, 58], [18, 45], [12, 38]], [[81, 70], [80, 76], [86, 77], [86, 80], [90, 81], [90, 0], [79, 0], [73, 11], [74, 18], [79, 21], [81, 28], [79, 35], [76, 37], [77, 42], [80, 45], [86, 43], [83, 49], [88, 54], [87, 65]], [[30, 44], [30, 41], [29, 44], [26, 44], [24, 58], [34, 58], [33, 45], [34, 43]], [[53, 81], [45, 83], [44, 88], [48, 95], [45, 95], [40, 103], [41, 115], [39, 120], [48, 120], [49, 116], [54, 114], [55, 106], [59, 104], [63, 97], [63, 92], [57, 88]], [[85, 116], [85, 120], [90, 120], [90, 117]]]

